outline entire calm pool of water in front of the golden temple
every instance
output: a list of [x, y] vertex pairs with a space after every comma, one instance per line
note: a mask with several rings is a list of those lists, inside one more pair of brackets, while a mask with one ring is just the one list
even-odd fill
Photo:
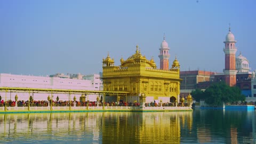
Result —
[[0, 143], [256, 143], [256, 112], [0, 114]]

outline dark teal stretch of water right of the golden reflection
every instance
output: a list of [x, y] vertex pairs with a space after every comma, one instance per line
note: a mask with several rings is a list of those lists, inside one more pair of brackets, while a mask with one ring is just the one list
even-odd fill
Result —
[[194, 110], [199, 143], [256, 143], [255, 111]]

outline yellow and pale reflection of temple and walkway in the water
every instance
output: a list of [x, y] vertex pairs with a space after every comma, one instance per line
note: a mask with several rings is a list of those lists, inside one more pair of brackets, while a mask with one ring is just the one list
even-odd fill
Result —
[[102, 143], [179, 143], [181, 127], [192, 127], [192, 114], [192, 111], [2, 114], [0, 140], [75, 137]]

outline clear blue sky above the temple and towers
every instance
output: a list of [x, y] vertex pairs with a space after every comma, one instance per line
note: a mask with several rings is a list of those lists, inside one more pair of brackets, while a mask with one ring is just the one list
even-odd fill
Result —
[[0, 73], [98, 74], [102, 58], [125, 60], [138, 44], [159, 68], [165, 33], [170, 65], [222, 72], [228, 33], [256, 69], [255, 0], [0, 1]]

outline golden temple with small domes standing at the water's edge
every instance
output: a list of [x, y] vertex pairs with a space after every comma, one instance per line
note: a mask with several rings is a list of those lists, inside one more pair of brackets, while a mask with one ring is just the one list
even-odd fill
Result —
[[[129, 58], [120, 59], [121, 66], [115, 66], [114, 59], [103, 58], [102, 80], [104, 91], [129, 92], [127, 102], [139, 102], [141, 94], [145, 95], [146, 102], [179, 101], [180, 94], [180, 65], [177, 58], [173, 61], [171, 69], [157, 69], [153, 58], [148, 60], [141, 54], [139, 46]], [[169, 67], [169, 66], [168, 66]], [[116, 100], [113, 95], [106, 95], [106, 101]], [[126, 101], [125, 96], [120, 95], [118, 100]]]

